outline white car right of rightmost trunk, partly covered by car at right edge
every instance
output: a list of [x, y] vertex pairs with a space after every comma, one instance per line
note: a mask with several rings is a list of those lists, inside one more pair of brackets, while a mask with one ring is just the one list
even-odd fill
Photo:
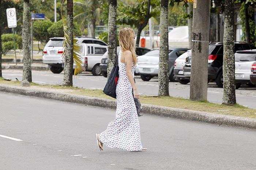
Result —
[[250, 74], [252, 64], [256, 61], [256, 51], [244, 50], [235, 53], [235, 77], [236, 83], [246, 83], [252, 85], [250, 81]]

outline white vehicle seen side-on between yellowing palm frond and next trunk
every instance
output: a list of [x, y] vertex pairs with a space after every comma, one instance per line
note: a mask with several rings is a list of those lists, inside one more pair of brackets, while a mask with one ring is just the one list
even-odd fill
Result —
[[[85, 44], [78, 43], [81, 45], [80, 55], [82, 56], [82, 63], [84, 63], [84, 70], [90, 71], [94, 76], [101, 75], [101, 68], [99, 64], [103, 54], [107, 51], [107, 46], [102, 46], [99, 44]], [[73, 64], [73, 71], [75, 70], [76, 64]], [[64, 63], [62, 64], [64, 68]]]

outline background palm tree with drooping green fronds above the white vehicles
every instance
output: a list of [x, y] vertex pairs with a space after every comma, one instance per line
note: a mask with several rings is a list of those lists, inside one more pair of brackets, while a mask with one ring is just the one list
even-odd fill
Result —
[[[74, 19], [82, 19], [81, 25], [92, 24], [92, 36], [95, 37], [96, 24], [99, 23], [101, 3], [99, 0], [84, 0], [84, 2], [75, 1], [74, 4], [82, 7], [84, 12], [79, 13]], [[86, 9], [86, 10], [84, 10]], [[88, 22], [89, 21], [89, 22]]]

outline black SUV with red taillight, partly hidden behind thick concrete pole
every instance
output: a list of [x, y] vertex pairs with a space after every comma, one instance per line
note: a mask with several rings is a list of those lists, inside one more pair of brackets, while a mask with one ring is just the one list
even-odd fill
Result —
[[[240, 50], [252, 50], [256, 49], [255, 46], [251, 46], [244, 42], [235, 42], [235, 52]], [[223, 87], [223, 42], [210, 43], [209, 44], [209, 56], [208, 56], [208, 80], [215, 80], [218, 87]], [[184, 66], [184, 76], [186, 79], [190, 79], [191, 74], [191, 51], [188, 53], [186, 64]]]

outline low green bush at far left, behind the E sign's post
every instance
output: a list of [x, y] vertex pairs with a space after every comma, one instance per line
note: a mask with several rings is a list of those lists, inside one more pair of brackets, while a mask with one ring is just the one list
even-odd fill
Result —
[[[13, 34], [5, 33], [1, 35], [1, 38], [2, 38], [3, 55], [6, 55], [8, 51], [14, 50]], [[22, 37], [15, 34], [14, 39], [15, 39], [16, 49], [22, 49]]]

